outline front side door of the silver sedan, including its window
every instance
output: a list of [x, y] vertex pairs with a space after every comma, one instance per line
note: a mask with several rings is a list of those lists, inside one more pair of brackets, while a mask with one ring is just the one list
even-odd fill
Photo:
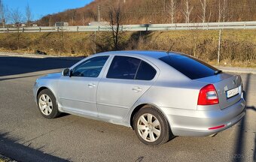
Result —
[[59, 80], [59, 104], [63, 111], [97, 116], [96, 92], [108, 55], [88, 58], [73, 68], [71, 77]]

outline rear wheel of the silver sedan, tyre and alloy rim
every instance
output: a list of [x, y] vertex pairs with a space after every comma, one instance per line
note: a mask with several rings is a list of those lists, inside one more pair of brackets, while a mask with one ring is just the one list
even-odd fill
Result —
[[162, 145], [173, 137], [166, 117], [156, 107], [146, 106], [139, 110], [133, 127], [139, 140], [146, 145]]

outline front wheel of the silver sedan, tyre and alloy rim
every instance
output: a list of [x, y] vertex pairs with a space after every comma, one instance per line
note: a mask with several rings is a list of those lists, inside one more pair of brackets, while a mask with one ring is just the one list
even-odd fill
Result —
[[44, 118], [56, 118], [60, 115], [56, 98], [49, 89], [43, 89], [38, 94], [38, 109]]

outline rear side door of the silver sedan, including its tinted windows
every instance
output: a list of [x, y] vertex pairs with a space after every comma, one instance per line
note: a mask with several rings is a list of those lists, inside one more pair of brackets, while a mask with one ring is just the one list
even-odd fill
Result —
[[122, 120], [133, 104], [154, 83], [157, 71], [139, 58], [115, 55], [99, 82], [97, 107], [100, 118]]

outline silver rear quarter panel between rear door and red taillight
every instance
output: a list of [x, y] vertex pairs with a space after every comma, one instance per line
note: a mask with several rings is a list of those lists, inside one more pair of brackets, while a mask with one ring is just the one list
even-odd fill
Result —
[[[171, 81], [160, 82], [158, 80], [138, 101], [136, 101], [136, 104], [133, 105], [132, 109], [130, 109], [129, 113], [126, 115], [126, 118], [124, 118], [124, 122], [130, 123], [133, 110], [142, 104], [151, 104], [159, 110], [161, 110], [160, 107], [169, 107], [170, 110], [175, 107], [177, 108], [175, 110], [180, 110], [180, 113], [183, 112], [182, 110], [197, 110], [198, 94], [200, 87], [205, 85], [204, 83], [190, 81], [190, 86], [194, 88], [189, 89], [189, 87], [185, 86], [189, 81], [177, 83]], [[170, 87], [170, 85], [173, 87]], [[167, 119], [171, 122], [171, 118]]]

